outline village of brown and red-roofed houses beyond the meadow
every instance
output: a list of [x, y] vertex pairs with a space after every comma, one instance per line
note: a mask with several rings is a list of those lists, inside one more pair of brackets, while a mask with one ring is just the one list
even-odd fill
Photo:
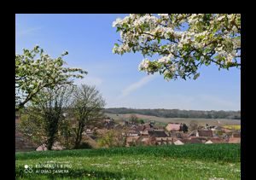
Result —
[[[16, 117], [16, 125], [20, 119]], [[101, 127], [88, 126], [84, 131], [84, 141], [90, 142], [92, 147], [96, 147], [98, 136], [102, 136], [108, 131], [119, 131], [120, 136], [125, 139], [125, 147], [131, 146], [161, 146], [161, 145], [183, 145], [189, 143], [240, 143], [241, 131], [230, 130], [218, 125], [198, 126], [193, 131], [182, 131], [182, 123], [168, 123], [166, 126], [156, 125], [154, 121], [146, 123], [135, 123], [125, 121], [116, 123], [114, 119], [103, 119]], [[19, 131], [15, 131], [16, 151], [45, 150], [44, 145], [37, 146], [29, 142]], [[55, 150], [65, 149], [56, 142]]]

